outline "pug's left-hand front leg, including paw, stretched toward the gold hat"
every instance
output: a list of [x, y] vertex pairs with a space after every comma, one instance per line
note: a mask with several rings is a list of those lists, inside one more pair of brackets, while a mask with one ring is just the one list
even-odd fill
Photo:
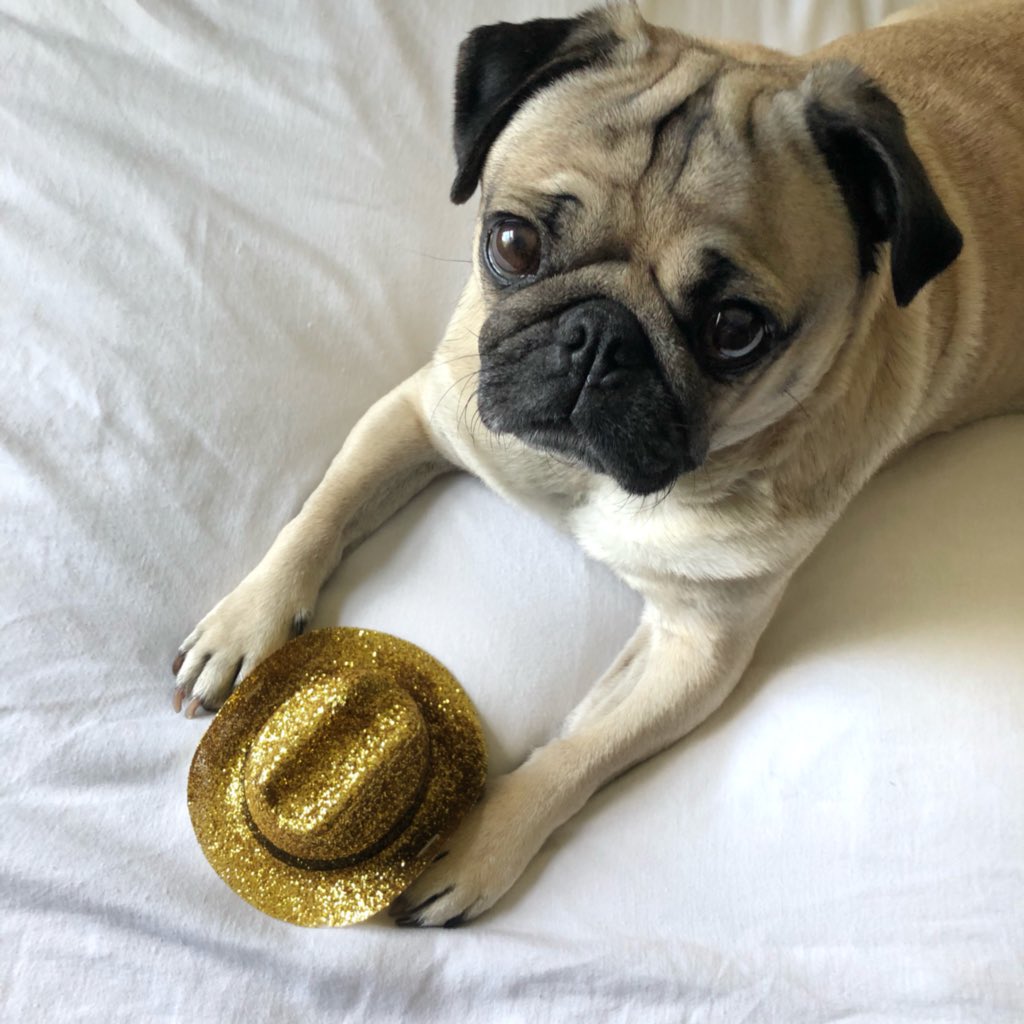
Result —
[[445, 469], [420, 406], [421, 370], [352, 429], [302, 511], [196, 627], [174, 662], [174, 707], [219, 708], [238, 680], [301, 633], [344, 549], [374, 530]]

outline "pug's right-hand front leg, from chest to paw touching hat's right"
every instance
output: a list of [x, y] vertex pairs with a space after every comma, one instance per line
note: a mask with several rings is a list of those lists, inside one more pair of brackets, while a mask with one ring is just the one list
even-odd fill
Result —
[[455, 925], [486, 910], [596, 790], [699, 725], [739, 679], [782, 586], [775, 578], [701, 587], [668, 618], [648, 605], [558, 738], [488, 782], [446, 849], [392, 905], [398, 923]]

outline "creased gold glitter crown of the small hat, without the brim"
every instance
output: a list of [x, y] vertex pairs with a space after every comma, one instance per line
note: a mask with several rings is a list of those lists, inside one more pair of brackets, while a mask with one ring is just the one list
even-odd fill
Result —
[[245, 801], [264, 842], [304, 861], [370, 856], [415, 810], [430, 739], [408, 690], [376, 673], [314, 679], [249, 749]]

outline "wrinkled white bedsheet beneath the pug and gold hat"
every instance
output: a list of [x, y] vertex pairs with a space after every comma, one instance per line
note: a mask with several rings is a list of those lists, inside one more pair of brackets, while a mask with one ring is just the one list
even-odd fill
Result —
[[[654, 8], [802, 46], [885, 5]], [[175, 647], [443, 327], [458, 39], [577, 9], [0, 0], [4, 1021], [1024, 1019], [1024, 419], [887, 470], [723, 711], [472, 926], [293, 928], [195, 842]], [[451, 478], [315, 625], [441, 658], [503, 770], [637, 610]]]

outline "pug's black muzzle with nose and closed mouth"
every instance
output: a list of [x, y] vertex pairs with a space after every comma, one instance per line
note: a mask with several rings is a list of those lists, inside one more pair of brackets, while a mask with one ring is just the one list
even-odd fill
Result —
[[487, 429], [582, 463], [633, 495], [666, 489], [705, 456], [646, 332], [611, 299], [512, 333], [488, 321], [477, 406]]

